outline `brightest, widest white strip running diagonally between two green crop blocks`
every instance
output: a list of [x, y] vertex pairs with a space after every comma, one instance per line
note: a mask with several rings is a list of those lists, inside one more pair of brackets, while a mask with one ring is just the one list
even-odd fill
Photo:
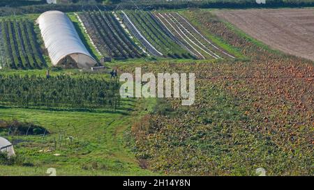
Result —
[[149, 50], [149, 52], [151, 52], [151, 54], [153, 54], [154, 56], [163, 56], [163, 54], [158, 52], [158, 50], [153, 45], [151, 45], [151, 43], [147, 41], [146, 38], [144, 38], [142, 33], [140, 33], [140, 31], [135, 27], [133, 22], [130, 21], [128, 15], [126, 15], [126, 13], [124, 13], [123, 10], [121, 10], [121, 13], [124, 15], [124, 18], [126, 19], [126, 25], [129, 26], [130, 31], [133, 33], [133, 35], [135, 35], [135, 37], [138, 40], [140, 40], [140, 42], [142, 42], [142, 45], [146, 47]]

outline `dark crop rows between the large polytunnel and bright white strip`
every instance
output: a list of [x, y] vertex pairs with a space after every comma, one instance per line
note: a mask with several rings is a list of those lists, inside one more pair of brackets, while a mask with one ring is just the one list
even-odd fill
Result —
[[109, 55], [117, 59], [144, 56], [119, 23], [114, 21], [111, 13], [87, 12], [80, 17], [103, 56]]

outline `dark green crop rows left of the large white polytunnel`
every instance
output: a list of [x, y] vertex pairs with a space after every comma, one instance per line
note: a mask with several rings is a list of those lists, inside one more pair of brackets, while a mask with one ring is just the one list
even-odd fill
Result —
[[0, 22], [2, 46], [6, 52], [1, 56], [2, 65], [11, 69], [45, 68], [33, 23], [28, 19], [2, 19]]

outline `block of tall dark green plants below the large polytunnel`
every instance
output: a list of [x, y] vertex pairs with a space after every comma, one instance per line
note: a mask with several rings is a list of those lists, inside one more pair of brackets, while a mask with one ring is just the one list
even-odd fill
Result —
[[0, 104], [58, 108], [119, 106], [119, 83], [91, 77], [0, 75]]

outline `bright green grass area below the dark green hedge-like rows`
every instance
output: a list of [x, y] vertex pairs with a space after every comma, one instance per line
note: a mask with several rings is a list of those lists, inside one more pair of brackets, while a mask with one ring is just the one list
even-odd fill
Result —
[[[15, 136], [24, 140], [15, 145], [17, 155], [23, 155], [23, 164], [32, 166], [1, 166], [0, 175], [45, 175], [47, 168], [56, 168], [58, 175], [158, 175], [140, 168], [127, 144], [132, 141], [128, 134], [132, 121], [151, 111], [154, 104], [155, 100], [126, 100], [115, 113], [1, 108], [1, 120], [35, 122], [50, 134], [45, 139]], [[58, 141], [60, 134], [74, 136], [73, 144], [59, 141], [55, 149], [52, 139]]]

